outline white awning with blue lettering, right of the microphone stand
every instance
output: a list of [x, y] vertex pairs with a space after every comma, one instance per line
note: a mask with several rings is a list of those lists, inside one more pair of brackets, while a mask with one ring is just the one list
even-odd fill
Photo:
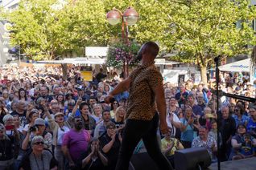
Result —
[[220, 71], [250, 72], [250, 59], [243, 59], [238, 62], [225, 64], [219, 67]]

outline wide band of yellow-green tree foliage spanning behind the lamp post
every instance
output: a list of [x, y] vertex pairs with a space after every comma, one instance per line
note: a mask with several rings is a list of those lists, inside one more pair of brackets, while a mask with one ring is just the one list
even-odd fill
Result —
[[[54, 59], [85, 46], [107, 46], [121, 38], [122, 24], [111, 26], [105, 14], [114, 7], [138, 11], [129, 38], [138, 43], [159, 42], [162, 51], [176, 51], [173, 59], [196, 63], [206, 81], [206, 67], [217, 55], [247, 54], [255, 45], [252, 21], [255, 7], [249, 0], [22, 0], [9, 14], [11, 42], [39, 59]], [[56, 8], [56, 6], [59, 6]]]

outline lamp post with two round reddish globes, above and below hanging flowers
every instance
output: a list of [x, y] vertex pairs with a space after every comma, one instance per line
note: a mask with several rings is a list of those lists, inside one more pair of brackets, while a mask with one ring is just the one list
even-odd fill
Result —
[[[114, 8], [106, 14], [106, 18], [111, 25], [117, 25], [122, 19], [122, 40], [128, 45], [128, 26], [132, 26], [138, 21], [138, 12], [133, 7], [128, 7], [124, 13]], [[125, 58], [123, 60], [124, 78], [128, 77], [129, 74], [128, 63], [129, 61]]]

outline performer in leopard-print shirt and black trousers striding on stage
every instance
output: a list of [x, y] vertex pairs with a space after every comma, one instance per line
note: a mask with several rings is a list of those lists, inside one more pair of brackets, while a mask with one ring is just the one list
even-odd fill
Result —
[[[141, 65], [130, 76], [118, 84], [105, 98], [109, 103], [114, 95], [129, 90], [126, 107], [126, 127], [123, 131], [122, 144], [116, 170], [128, 170], [130, 157], [139, 140], [143, 140], [148, 154], [159, 169], [172, 169], [167, 158], [163, 156], [156, 137], [159, 125], [163, 134], [169, 132], [166, 122], [166, 103], [163, 91], [163, 77], [155, 67], [155, 57], [159, 47], [155, 42], [146, 42], [138, 51]], [[155, 102], [157, 109], [155, 108]], [[159, 124], [160, 119], [160, 124]]]

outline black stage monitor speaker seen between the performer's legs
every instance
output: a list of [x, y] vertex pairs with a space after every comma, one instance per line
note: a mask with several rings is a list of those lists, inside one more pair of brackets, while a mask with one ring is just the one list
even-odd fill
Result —
[[[130, 159], [129, 170], [159, 170], [147, 152], [134, 154]], [[162, 169], [161, 169], [162, 170]]]

